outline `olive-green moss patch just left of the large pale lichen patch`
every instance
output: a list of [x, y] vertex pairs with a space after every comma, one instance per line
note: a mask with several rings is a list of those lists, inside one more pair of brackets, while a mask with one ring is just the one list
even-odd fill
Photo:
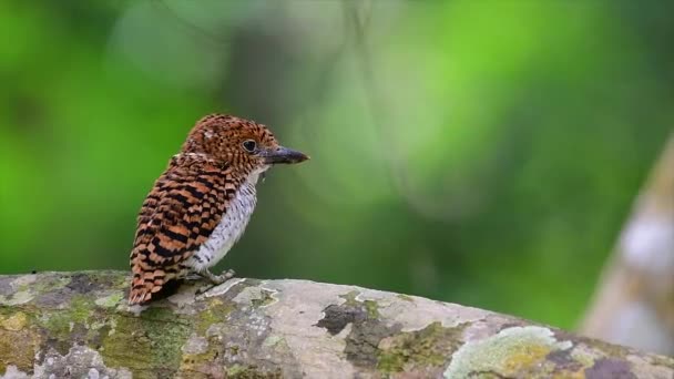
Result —
[[380, 344], [377, 369], [390, 373], [442, 367], [459, 347], [466, 326], [445, 328], [440, 322], [432, 322], [421, 330], [389, 337]]

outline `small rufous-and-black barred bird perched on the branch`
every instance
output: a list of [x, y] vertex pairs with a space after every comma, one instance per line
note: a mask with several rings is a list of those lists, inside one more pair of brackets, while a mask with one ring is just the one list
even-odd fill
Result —
[[141, 207], [131, 252], [130, 305], [152, 300], [170, 280], [193, 274], [221, 284], [217, 264], [244, 233], [255, 184], [272, 165], [309, 157], [283, 147], [262, 124], [211, 114], [196, 122]]

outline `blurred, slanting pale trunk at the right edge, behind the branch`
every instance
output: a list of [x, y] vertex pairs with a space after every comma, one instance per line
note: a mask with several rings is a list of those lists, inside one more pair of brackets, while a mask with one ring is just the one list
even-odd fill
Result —
[[674, 355], [674, 133], [604, 268], [581, 332]]

